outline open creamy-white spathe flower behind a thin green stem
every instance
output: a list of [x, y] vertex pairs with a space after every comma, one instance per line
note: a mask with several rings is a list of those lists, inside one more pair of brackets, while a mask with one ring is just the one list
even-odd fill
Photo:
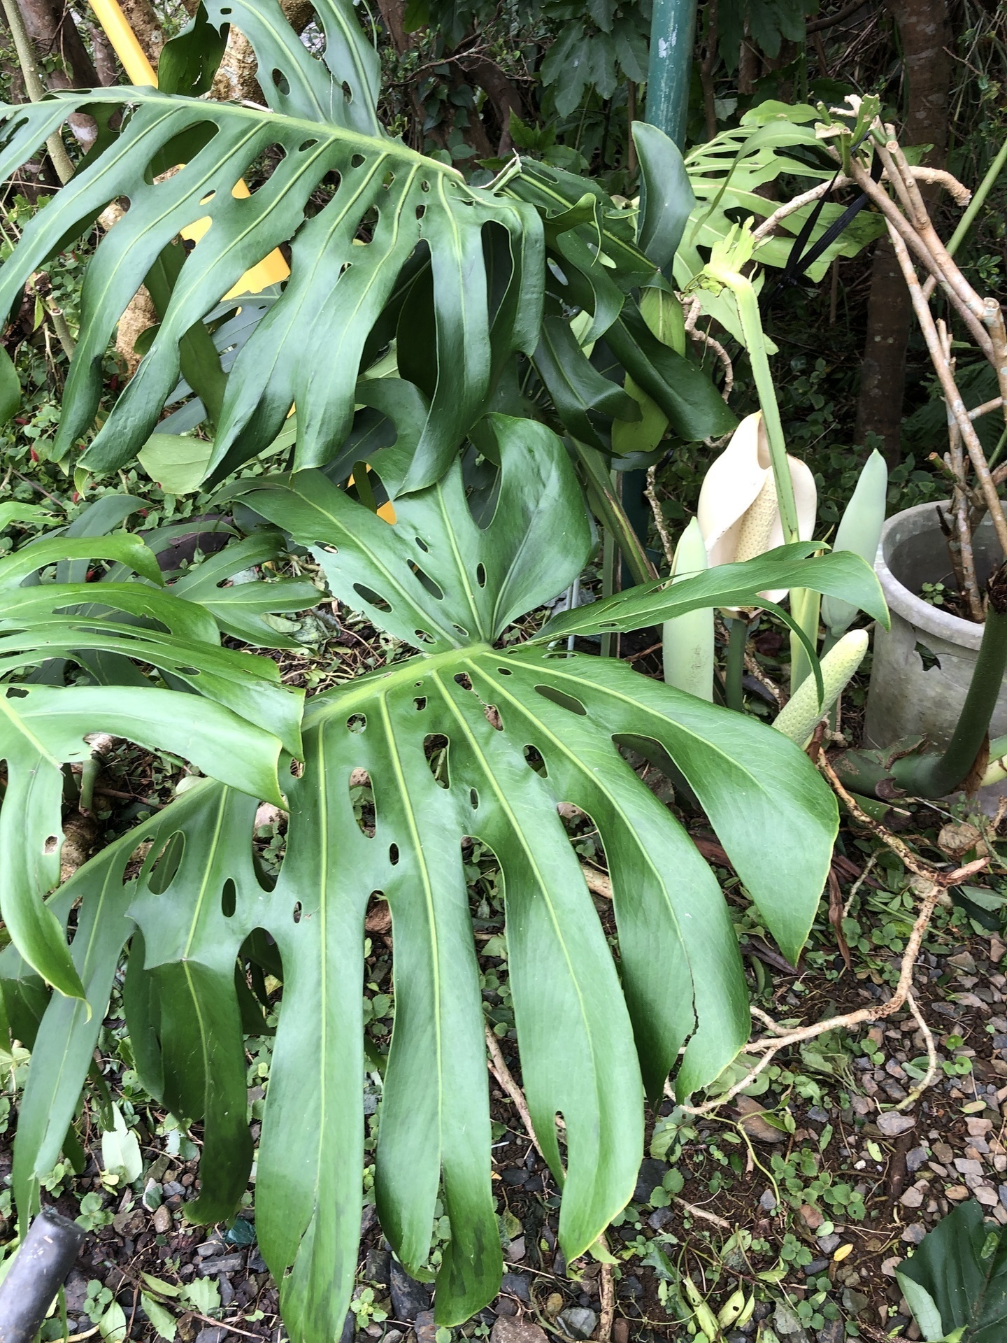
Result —
[[[787, 465], [798, 506], [798, 536], [810, 541], [818, 504], [815, 477], [796, 457], [788, 455]], [[751, 560], [784, 544], [761, 411], [741, 420], [728, 446], [710, 463], [700, 490], [697, 517], [710, 568]], [[764, 592], [763, 596], [769, 602], [781, 602], [787, 590]]]

